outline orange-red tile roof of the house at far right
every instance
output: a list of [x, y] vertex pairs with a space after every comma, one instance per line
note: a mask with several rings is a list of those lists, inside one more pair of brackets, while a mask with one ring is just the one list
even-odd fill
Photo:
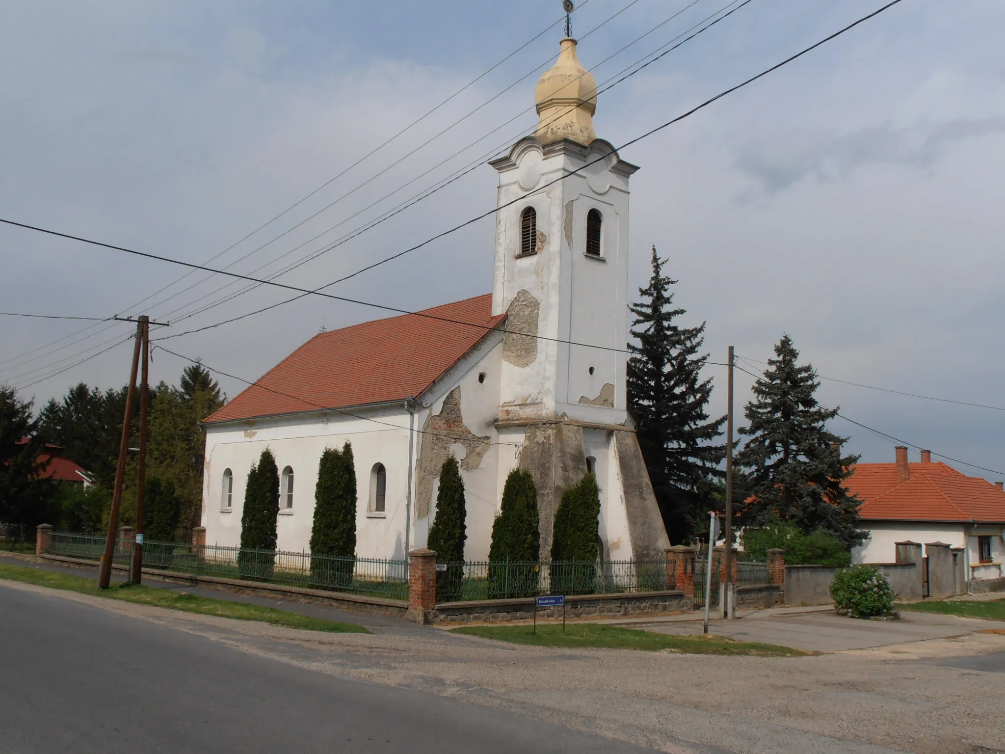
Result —
[[1005, 492], [945, 463], [909, 463], [897, 483], [896, 463], [859, 463], [847, 482], [863, 502], [859, 516], [873, 521], [1005, 523]]

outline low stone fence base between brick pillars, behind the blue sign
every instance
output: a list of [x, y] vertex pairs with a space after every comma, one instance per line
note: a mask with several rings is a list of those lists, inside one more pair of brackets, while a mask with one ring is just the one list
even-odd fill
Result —
[[[567, 618], [638, 617], [691, 609], [691, 598], [681, 591], [634, 594], [584, 594], [566, 597]], [[426, 614], [429, 623], [496, 623], [530, 620], [534, 597], [486, 599], [471, 602], [441, 602]], [[561, 618], [561, 607], [538, 610], [539, 619]]]

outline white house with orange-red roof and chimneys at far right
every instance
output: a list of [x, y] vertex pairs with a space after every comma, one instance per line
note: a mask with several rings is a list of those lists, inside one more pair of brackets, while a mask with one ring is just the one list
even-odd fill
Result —
[[909, 462], [908, 448], [895, 448], [892, 463], [858, 463], [847, 481], [863, 501], [859, 511], [869, 539], [852, 551], [855, 562], [890, 563], [896, 543], [946, 544], [967, 581], [1005, 576], [1005, 492], [933, 462], [922, 450], [921, 462]]

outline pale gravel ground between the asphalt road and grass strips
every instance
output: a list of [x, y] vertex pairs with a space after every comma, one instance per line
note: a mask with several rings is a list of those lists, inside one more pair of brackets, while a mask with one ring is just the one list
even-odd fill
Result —
[[1005, 635], [997, 633], [805, 657], [549, 649], [441, 631], [316, 633], [4, 584], [312, 671], [420, 689], [659, 751], [1005, 751], [1005, 673], [933, 664], [1003, 652]]

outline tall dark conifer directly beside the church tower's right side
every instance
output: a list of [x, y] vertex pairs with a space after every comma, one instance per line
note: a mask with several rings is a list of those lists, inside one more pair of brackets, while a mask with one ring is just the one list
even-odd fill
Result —
[[713, 441], [726, 417], [709, 420], [712, 379], [701, 379], [708, 354], [698, 353], [705, 323], [676, 324], [685, 310], [673, 308], [670, 286], [676, 280], [663, 274], [664, 263], [653, 245], [652, 277], [639, 289], [642, 302], [631, 306], [638, 345], [628, 344], [628, 407], [666, 533], [680, 544], [701, 530], [706, 512], [718, 505], [726, 445]]

